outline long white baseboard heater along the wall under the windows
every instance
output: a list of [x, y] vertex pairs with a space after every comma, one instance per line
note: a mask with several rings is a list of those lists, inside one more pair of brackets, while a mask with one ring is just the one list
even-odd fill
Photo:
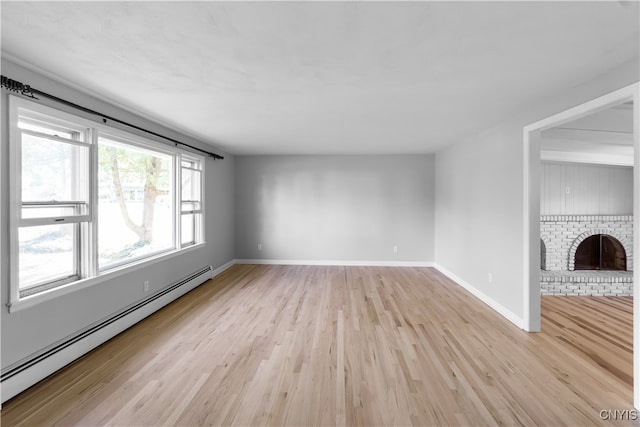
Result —
[[6, 402], [212, 277], [213, 268], [207, 266], [42, 352], [7, 367], [0, 374], [1, 401]]

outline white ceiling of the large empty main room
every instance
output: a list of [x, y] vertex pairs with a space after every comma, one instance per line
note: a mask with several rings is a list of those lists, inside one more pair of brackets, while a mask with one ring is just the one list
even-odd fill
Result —
[[637, 2], [0, 7], [7, 58], [236, 154], [434, 152], [640, 37]]

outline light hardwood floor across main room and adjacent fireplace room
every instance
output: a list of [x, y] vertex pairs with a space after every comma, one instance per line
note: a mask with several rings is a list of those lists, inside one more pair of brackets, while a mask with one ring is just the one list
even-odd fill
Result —
[[2, 424], [611, 424], [600, 410], [632, 408], [631, 299], [542, 304], [527, 334], [430, 268], [237, 265]]

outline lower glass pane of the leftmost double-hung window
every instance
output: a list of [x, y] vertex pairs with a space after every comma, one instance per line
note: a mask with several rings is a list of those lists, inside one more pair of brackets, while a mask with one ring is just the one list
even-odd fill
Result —
[[74, 276], [75, 224], [19, 229], [19, 288]]

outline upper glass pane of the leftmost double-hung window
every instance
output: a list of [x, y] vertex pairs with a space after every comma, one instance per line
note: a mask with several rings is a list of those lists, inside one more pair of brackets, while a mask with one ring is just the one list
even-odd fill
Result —
[[22, 134], [22, 201], [82, 200], [88, 148]]

